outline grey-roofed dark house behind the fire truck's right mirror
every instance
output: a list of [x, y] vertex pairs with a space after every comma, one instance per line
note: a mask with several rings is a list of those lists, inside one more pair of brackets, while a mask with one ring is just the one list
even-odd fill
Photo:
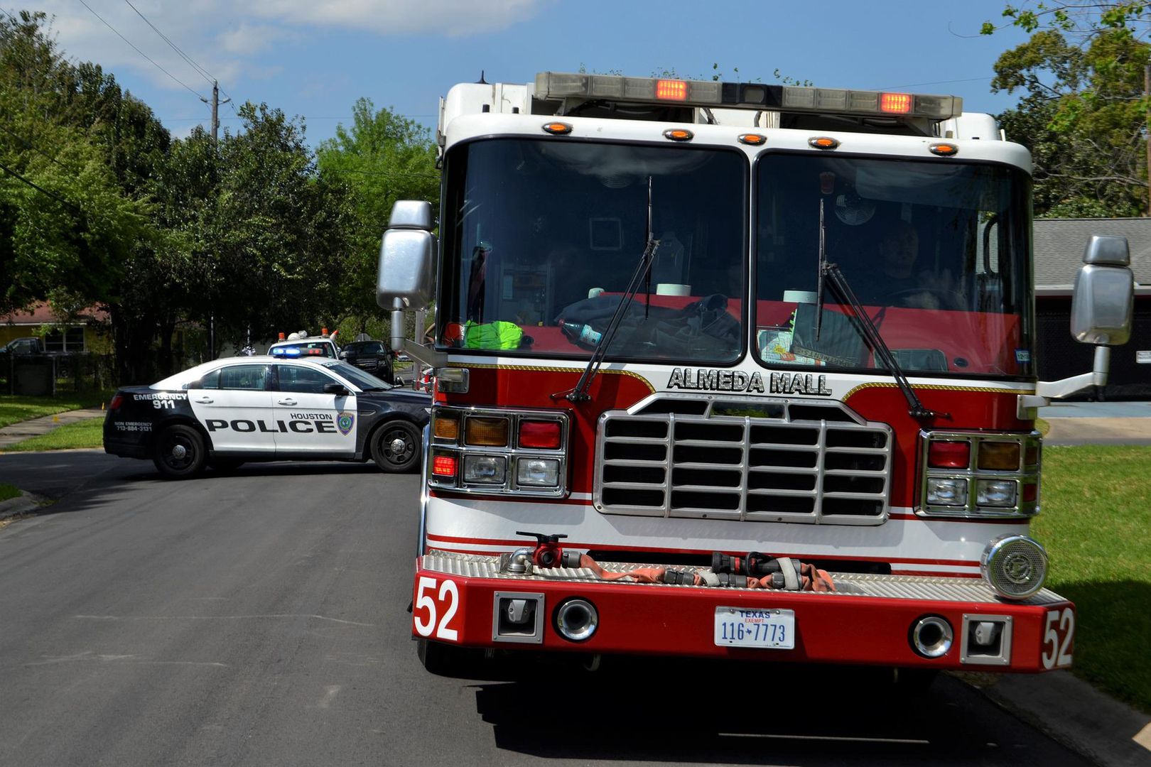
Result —
[[[1091, 369], [1093, 347], [1070, 336], [1072, 290], [1092, 235], [1126, 237], [1135, 274], [1131, 339], [1111, 353], [1111, 376], [1102, 392], [1077, 397], [1151, 399], [1151, 218], [1036, 218], [1036, 361], [1041, 381]], [[1143, 354], [1138, 354], [1143, 352]], [[1139, 358], [1146, 360], [1141, 362]]]

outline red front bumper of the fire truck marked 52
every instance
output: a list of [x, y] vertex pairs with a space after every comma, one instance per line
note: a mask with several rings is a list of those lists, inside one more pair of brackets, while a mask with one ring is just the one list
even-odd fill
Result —
[[[641, 567], [600, 565], [608, 570]], [[832, 577], [834, 593], [605, 582], [592, 570], [570, 568], [513, 576], [498, 572], [497, 557], [434, 551], [417, 559], [412, 635], [472, 647], [604, 654], [1012, 672], [1070, 665], [1074, 605], [1046, 589], [1026, 601], [1008, 603], [976, 578]], [[496, 600], [509, 595], [542, 601], [538, 638], [500, 636]], [[556, 630], [556, 608], [570, 597], [587, 599], [599, 612], [599, 629], [584, 642], [565, 639]], [[794, 649], [717, 646], [717, 607], [794, 611]], [[953, 627], [952, 646], [939, 658], [924, 658], [912, 647], [912, 627], [927, 615], [942, 616]], [[975, 626], [986, 621], [1005, 627], [992, 649], [975, 639]]]

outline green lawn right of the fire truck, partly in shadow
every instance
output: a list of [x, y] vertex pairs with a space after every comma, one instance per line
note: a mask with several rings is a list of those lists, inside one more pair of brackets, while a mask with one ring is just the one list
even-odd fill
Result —
[[1151, 447], [1044, 447], [1031, 531], [1076, 606], [1075, 675], [1151, 713]]

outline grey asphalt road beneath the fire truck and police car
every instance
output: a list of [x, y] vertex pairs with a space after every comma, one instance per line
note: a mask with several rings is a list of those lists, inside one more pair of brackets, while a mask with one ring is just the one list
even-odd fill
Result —
[[414, 476], [168, 483], [71, 452], [0, 455], [0, 482], [62, 494], [0, 530], [6, 767], [1085, 764], [951, 677], [907, 698], [767, 664], [430, 676], [407, 628]]

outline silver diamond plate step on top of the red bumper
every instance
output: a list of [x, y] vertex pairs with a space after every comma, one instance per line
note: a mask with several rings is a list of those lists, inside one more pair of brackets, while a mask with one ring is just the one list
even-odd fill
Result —
[[[600, 562], [600, 566], [613, 573], [627, 573], [641, 567], [663, 567], [662, 565], [638, 565], [632, 562]], [[424, 555], [424, 568], [468, 578], [495, 578], [497, 581], [517, 582], [588, 582], [612, 583], [625, 586], [647, 586], [655, 589], [704, 589], [707, 586], [684, 586], [657, 584], [637, 584], [628, 581], [602, 581], [588, 568], [556, 567], [538, 569], [532, 575], [506, 575], [500, 573], [498, 557], [479, 554], [453, 554], [434, 552]], [[676, 569], [691, 569], [677, 566]], [[832, 573], [836, 583], [834, 592], [806, 592], [815, 597], [875, 597], [881, 599], [922, 599], [929, 601], [974, 601], [1001, 603], [982, 578], [947, 578], [921, 575], [863, 575], [860, 573]], [[762, 589], [727, 589], [727, 591], [748, 591], [762, 593]], [[1030, 599], [1019, 605], [1047, 605], [1066, 601], [1050, 589], [1043, 589]]]

